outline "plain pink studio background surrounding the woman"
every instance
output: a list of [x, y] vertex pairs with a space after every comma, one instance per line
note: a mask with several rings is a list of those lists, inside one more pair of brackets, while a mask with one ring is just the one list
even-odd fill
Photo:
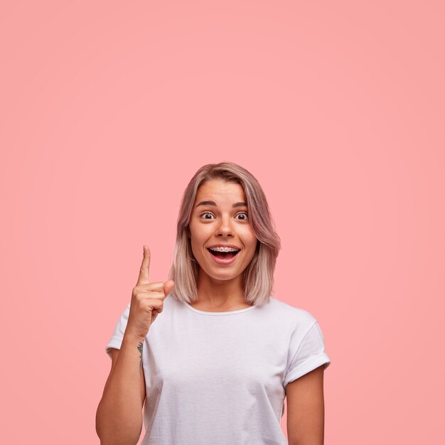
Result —
[[442, 5], [4, 2], [2, 441], [99, 444], [142, 245], [166, 279], [183, 189], [235, 161], [325, 336], [326, 444], [441, 443]]

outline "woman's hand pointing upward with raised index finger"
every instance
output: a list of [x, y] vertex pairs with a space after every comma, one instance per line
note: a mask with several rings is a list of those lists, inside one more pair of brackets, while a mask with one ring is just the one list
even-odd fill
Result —
[[151, 323], [163, 309], [163, 300], [173, 289], [174, 282], [149, 283], [150, 250], [144, 246], [144, 258], [139, 272], [139, 279], [132, 291], [132, 302], [127, 322], [127, 329], [132, 335], [145, 338]]

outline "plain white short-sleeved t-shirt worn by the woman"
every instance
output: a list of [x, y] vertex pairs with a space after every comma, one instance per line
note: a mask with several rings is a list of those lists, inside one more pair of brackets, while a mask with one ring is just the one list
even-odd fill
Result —
[[[105, 347], [121, 347], [130, 304]], [[110, 355], [111, 356], [111, 355]], [[166, 296], [144, 340], [141, 445], [284, 445], [284, 387], [331, 360], [316, 318], [270, 297], [208, 312]]]

